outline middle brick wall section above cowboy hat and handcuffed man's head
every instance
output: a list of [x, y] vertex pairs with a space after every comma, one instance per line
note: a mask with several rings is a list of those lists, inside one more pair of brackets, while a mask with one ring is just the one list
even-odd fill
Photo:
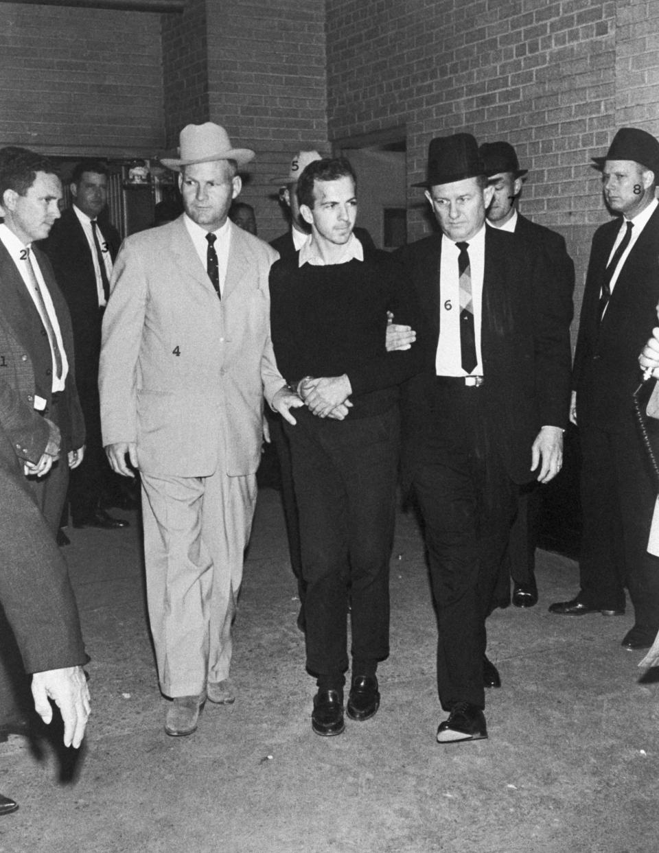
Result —
[[242, 200], [265, 240], [287, 227], [271, 178], [300, 148], [327, 148], [324, 41], [324, 0], [209, 0], [209, 115], [256, 152]]

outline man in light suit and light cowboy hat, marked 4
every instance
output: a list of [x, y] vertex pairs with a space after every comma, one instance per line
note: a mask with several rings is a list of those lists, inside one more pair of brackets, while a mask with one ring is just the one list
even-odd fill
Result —
[[267, 244], [231, 223], [239, 166], [223, 127], [181, 131], [184, 213], [129, 237], [113, 270], [100, 369], [103, 444], [141, 473], [149, 619], [166, 733], [233, 702], [231, 622], [256, 498], [262, 400], [301, 401], [272, 354]]

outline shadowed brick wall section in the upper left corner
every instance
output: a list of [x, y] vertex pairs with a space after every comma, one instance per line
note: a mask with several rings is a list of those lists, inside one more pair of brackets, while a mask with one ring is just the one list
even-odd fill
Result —
[[153, 154], [161, 59], [160, 15], [0, 3], [0, 145]]

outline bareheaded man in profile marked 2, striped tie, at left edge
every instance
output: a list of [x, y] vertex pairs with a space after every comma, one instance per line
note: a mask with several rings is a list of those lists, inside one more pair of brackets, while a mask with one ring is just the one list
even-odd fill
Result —
[[49, 160], [25, 148], [0, 150], [0, 381], [16, 456], [54, 532], [69, 467], [77, 467], [85, 451], [71, 319], [48, 258], [32, 246], [59, 218], [60, 199]]

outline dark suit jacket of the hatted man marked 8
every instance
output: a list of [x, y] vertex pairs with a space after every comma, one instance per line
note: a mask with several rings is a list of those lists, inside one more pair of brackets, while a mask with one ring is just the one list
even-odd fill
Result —
[[659, 207], [629, 252], [598, 326], [602, 276], [620, 225], [615, 218], [592, 238], [572, 377], [579, 426], [611, 431], [628, 427], [633, 419], [639, 352], [657, 324]]

